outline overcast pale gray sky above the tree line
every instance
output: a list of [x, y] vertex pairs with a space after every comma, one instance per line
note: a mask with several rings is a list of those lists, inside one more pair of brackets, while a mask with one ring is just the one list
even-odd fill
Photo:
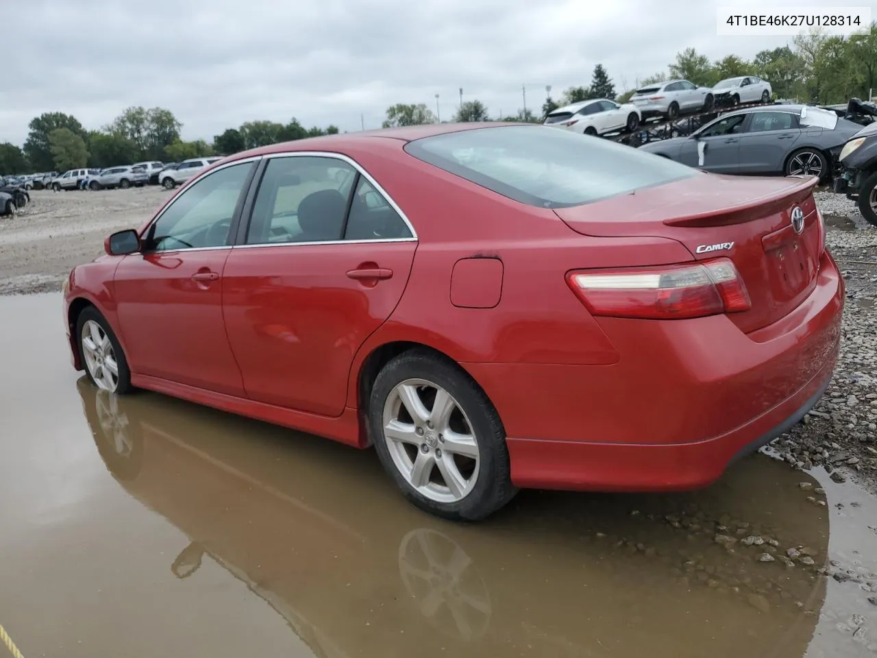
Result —
[[[535, 107], [545, 85], [588, 84], [597, 62], [620, 91], [686, 46], [748, 58], [790, 40], [717, 37], [717, 5], [752, 1], [2, 0], [21, 18], [4, 27], [0, 142], [23, 144], [43, 111], [99, 128], [129, 105], [173, 111], [183, 139], [253, 119], [374, 128], [390, 104], [434, 111], [436, 94], [449, 118], [460, 87], [508, 114], [523, 85]], [[820, 3], [769, 6], [782, 4]]]

